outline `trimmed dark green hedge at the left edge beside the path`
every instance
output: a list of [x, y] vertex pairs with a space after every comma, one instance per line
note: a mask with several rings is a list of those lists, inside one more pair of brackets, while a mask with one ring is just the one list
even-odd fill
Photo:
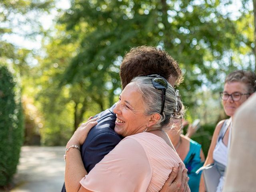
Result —
[[23, 138], [18, 77], [6, 66], [0, 66], [0, 186], [8, 185], [16, 172]]

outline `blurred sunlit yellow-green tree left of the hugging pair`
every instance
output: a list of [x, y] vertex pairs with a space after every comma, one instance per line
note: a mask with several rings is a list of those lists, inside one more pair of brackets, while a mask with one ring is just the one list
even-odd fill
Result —
[[[102, 97], [100, 102], [89, 92], [90, 80], [60, 86], [63, 72], [76, 53], [76, 42], [64, 42], [63, 26], [56, 27], [54, 36], [47, 36], [49, 43], [44, 43], [45, 56], [38, 56], [38, 67], [34, 73], [34, 84], [39, 87], [36, 106], [43, 114], [41, 129], [42, 144], [64, 145], [80, 122], [103, 110], [108, 98]], [[51, 32], [49, 32], [51, 34]]]

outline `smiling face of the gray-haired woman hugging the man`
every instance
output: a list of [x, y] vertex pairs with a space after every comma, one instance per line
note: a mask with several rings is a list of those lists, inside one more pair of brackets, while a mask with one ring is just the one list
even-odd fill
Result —
[[134, 83], [124, 88], [113, 112], [116, 114], [114, 130], [124, 137], [143, 132], [150, 120], [150, 116], [144, 115], [144, 101]]

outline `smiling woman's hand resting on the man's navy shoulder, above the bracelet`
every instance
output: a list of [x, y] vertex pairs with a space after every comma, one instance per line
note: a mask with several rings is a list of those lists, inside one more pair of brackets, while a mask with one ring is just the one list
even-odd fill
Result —
[[88, 132], [93, 128], [98, 122], [96, 120], [99, 117], [92, 118], [90, 117], [89, 120], [85, 123], [82, 123], [74, 132], [73, 136], [70, 138], [70, 143], [72, 144], [79, 144], [80, 146], [84, 143]]

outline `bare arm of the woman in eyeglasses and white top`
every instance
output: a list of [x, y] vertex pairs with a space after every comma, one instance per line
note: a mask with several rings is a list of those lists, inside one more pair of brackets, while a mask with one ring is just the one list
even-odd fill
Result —
[[[214, 160], [213, 160], [213, 151], [214, 151], [214, 148], [216, 146], [216, 143], [217, 143], [217, 139], [218, 139], [218, 135], [220, 133], [220, 129], [223, 125], [225, 120], [222, 120], [220, 121], [215, 130], [214, 130], [214, 133], [213, 133], [213, 136], [212, 136], [212, 142], [210, 144], [210, 148], [208, 150], [208, 154], [207, 154], [207, 157], [206, 157], [206, 160], [204, 162], [204, 166], [208, 165], [208, 164], [212, 164], [214, 163]], [[200, 184], [199, 184], [199, 192], [205, 192], [205, 186], [204, 186], [204, 179], [203, 179], [203, 175], [201, 175], [201, 179], [200, 179]]]

